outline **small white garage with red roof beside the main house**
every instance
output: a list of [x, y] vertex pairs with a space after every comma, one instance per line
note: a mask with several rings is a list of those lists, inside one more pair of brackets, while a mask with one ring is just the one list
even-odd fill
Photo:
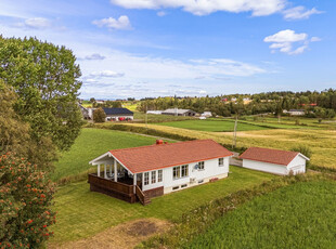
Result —
[[241, 156], [243, 168], [287, 175], [306, 172], [305, 155], [297, 152], [279, 150], [271, 148], [250, 147]]

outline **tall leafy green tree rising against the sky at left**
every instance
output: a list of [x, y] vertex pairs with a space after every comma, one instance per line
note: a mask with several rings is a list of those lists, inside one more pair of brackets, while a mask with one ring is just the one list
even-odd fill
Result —
[[14, 109], [30, 124], [30, 136], [37, 143], [50, 137], [62, 150], [78, 136], [80, 76], [76, 57], [65, 47], [36, 38], [0, 37], [0, 79], [17, 93]]

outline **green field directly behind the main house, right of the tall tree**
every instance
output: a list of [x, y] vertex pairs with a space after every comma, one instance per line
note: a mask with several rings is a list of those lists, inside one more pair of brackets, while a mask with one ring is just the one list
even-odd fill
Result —
[[155, 143], [155, 137], [135, 135], [119, 131], [86, 128], [75, 141], [70, 150], [63, 153], [55, 163], [52, 180], [82, 173], [92, 166], [89, 161], [115, 148], [137, 147]]

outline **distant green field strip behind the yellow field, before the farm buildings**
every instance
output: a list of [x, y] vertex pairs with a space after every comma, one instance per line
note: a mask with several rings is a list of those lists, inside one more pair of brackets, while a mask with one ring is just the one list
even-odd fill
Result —
[[[183, 128], [197, 131], [233, 131], [234, 121], [232, 120], [185, 120], [176, 122], [159, 122], [157, 124]], [[238, 122], [237, 131], [254, 131], [254, 130], [267, 130], [270, 128], [264, 128], [256, 124]]]

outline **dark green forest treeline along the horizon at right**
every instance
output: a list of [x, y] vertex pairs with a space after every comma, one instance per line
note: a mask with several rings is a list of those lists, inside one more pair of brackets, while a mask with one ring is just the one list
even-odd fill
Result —
[[306, 116], [334, 118], [336, 112], [336, 90], [321, 92], [266, 92], [258, 94], [231, 94], [204, 97], [146, 97], [138, 105], [138, 110], [163, 110], [167, 108], [193, 109], [197, 113], [211, 112], [212, 115], [258, 115], [272, 113], [282, 115], [284, 110], [305, 109]]

